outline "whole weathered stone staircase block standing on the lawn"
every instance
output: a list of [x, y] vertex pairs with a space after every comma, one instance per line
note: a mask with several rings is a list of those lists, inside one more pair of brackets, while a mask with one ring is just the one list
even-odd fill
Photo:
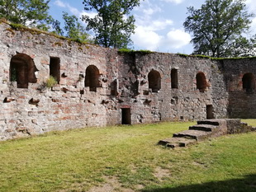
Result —
[[188, 130], [174, 133], [173, 138], [159, 141], [159, 145], [168, 148], [186, 147], [207, 138], [215, 138], [228, 133], [245, 133], [254, 131], [255, 128], [241, 123], [240, 119], [206, 119], [197, 121], [196, 125], [190, 126]]

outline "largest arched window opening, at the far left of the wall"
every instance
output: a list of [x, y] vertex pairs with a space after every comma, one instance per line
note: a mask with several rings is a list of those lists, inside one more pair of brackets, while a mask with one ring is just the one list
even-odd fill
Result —
[[26, 54], [16, 54], [11, 59], [10, 81], [17, 82], [17, 88], [27, 88], [28, 83], [36, 83], [35, 63]]

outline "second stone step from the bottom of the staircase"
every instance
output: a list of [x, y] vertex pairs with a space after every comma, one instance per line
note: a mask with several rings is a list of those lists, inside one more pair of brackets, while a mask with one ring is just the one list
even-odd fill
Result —
[[196, 139], [197, 141], [204, 140], [211, 136], [211, 132], [209, 131], [200, 131], [200, 130], [186, 130], [179, 133], [174, 133], [174, 138], [192, 138]]

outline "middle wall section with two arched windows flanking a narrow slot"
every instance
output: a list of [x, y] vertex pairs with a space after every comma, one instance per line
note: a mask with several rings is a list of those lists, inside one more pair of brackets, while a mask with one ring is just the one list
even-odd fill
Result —
[[[223, 75], [218, 72], [217, 62], [210, 59], [181, 57], [177, 54], [138, 53], [132, 56], [129, 59], [130, 63], [121, 60], [123, 68], [120, 74], [120, 89], [125, 92], [122, 93], [126, 101], [124, 103], [128, 103], [132, 110], [132, 124], [161, 120], [206, 119], [206, 105], [212, 107], [212, 118], [226, 116], [226, 110], [220, 110], [220, 105], [227, 105], [228, 95]], [[173, 69], [177, 73], [177, 82], [172, 82]], [[148, 75], [151, 71], [159, 72], [159, 91], [149, 88]], [[197, 87], [198, 73], [203, 73], [206, 77], [204, 91]], [[176, 86], [173, 87], [174, 82]], [[130, 98], [129, 90], [134, 84], [139, 85], [138, 94], [133, 91], [134, 94]]]

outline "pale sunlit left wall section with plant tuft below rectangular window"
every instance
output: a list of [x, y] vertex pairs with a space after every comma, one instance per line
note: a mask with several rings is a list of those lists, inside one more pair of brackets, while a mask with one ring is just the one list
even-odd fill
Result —
[[[106, 102], [110, 95], [107, 77], [108, 68], [116, 65], [115, 50], [30, 30], [13, 30], [7, 24], [1, 26], [0, 140], [55, 129], [111, 124], [107, 121]], [[36, 82], [29, 82], [27, 88], [18, 88], [17, 80], [10, 77], [10, 63], [17, 54], [26, 55], [36, 65]], [[50, 58], [60, 60], [59, 84], [51, 88], [45, 84], [50, 77]], [[99, 71], [99, 86], [94, 91], [85, 87], [88, 66]]]

